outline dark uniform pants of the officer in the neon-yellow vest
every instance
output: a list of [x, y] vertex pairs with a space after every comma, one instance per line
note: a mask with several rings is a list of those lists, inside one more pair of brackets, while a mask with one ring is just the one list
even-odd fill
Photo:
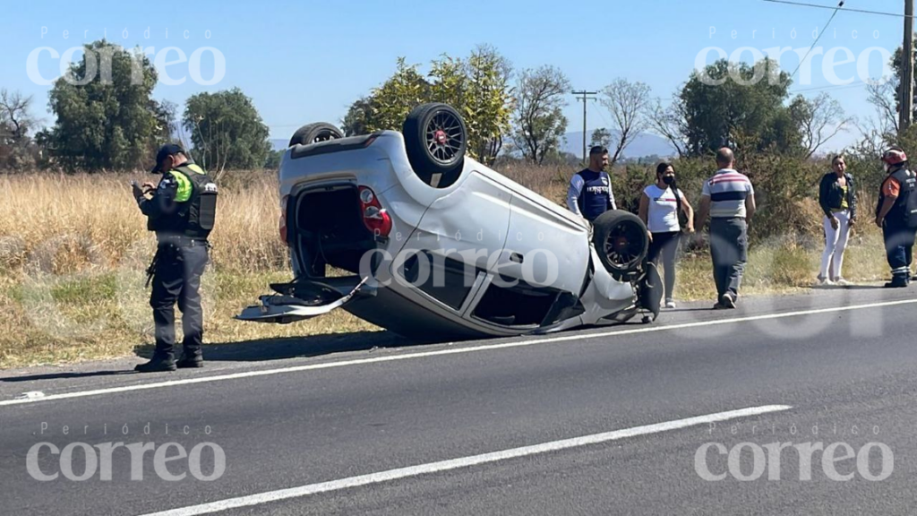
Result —
[[153, 292], [149, 306], [156, 325], [156, 354], [175, 356], [175, 303], [182, 310], [185, 356], [200, 356], [204, 336], [204, 313], [201, 309], [201, 275], [207, 264], [204, 242], [160, 244], [153, 271]]

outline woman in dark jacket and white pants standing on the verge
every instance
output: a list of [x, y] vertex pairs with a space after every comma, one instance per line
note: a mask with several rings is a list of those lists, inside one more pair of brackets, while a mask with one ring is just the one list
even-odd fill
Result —
[[856, 221], [856, 185], [847, 174], [844, 156], [834, 156], [832, 171], [824, 174], [818, 189], [818, 204], [824, 212], [824, 253], [818, 274], [820, 285], [848, 285], [841, 275], [850, 229]]

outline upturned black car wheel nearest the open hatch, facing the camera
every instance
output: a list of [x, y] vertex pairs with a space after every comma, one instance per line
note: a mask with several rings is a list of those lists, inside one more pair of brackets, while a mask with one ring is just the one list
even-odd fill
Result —
[[444, 188], [458, 180], [468, 149], [468, 129], [446, 104], [422, 104], [404, 119], [404, 148], [414, 172], [427, 185]]

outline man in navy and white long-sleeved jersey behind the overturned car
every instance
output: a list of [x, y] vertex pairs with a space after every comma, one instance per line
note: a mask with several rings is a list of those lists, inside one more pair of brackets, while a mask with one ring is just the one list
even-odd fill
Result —
[[601, 146], [589, 151], [589, 168], [574, 174], [567, 191], [567, 208], [590, 222], [614, 205], [612, 178], [605, 172], [608, 149]]

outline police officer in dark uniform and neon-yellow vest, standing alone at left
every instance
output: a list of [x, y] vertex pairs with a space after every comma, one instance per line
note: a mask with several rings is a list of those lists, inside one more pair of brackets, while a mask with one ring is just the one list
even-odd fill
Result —
[[[201, 275], [207, 264], [207, 237], [214, 227], [216, 185], [181, 147], [168, 143], [156, 154], [152, 173], [162, 174], [159, 185], [133, 185], [147, 229], [156, 232], [157, 249], [148, 274], [153, 291], [149, 305], [156, 326], [156, 351], [141, 373], [201, 367], [204, 318], [201, 311]], [[148, 194], [152, 196], [147, 196]], [[175, 361], [175, 311], [182, 310], [182, 358]]]

